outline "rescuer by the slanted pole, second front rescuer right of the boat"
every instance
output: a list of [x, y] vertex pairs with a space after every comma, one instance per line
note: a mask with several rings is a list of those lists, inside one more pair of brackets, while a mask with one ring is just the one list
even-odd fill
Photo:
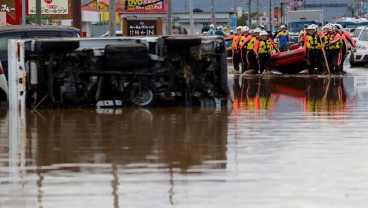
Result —
[[343, 45], [343, 41], [341, 35], [335, 31], [335, 25], [333, 27], [331, 27], [331, 25], [328, 25], [326, 27], [328, 28], [329, 32], [323, 38], [322, 47], [326, 48], [328, 66], [331, 73], [341, 74], [341, 48]]

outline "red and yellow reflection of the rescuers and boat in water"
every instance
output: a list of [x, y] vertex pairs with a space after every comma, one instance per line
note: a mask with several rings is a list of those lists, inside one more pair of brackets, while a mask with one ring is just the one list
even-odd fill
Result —
[[304, 112], [318, 115], [346, 112], [350, 107], [342, 77], [234, 76], [233, 94], [234, 108], [249, 111], [301, 106]]

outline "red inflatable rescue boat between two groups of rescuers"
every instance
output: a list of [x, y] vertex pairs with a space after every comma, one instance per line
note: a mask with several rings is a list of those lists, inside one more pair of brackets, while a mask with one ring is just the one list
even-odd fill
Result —
[[306, 67], [304, 49], [301, 47], [272, 54], [271, 58], [271, 68], [281, 73], [295, 74], [301, 72]]

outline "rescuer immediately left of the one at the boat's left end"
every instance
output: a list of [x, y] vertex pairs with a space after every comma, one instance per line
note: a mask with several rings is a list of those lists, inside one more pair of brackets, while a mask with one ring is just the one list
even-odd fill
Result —
[[241, 45], [241, 48], [246, 48], [246, 62], [247, 62], [247, 69], [249, 73], [258, 72], [258, 61], [256, 59], [256, 55], [254, 53], [254, 44], [260, 38], [259, 33], [261, 32], [260, 28], [256, 28], [254, 30], [249, 30], [249, 36]]

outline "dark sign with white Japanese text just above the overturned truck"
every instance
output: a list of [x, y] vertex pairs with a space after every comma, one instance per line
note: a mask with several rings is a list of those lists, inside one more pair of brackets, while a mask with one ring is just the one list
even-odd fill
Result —
[[128, 36], [157, 35], [156, 20], [128, 20]]

